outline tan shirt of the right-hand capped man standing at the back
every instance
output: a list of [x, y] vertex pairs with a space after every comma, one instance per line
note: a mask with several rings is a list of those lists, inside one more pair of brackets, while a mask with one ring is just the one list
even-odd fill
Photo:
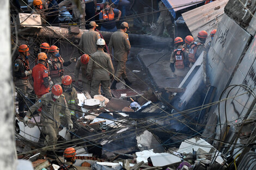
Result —
[[127, 61], [127, 55], [131, 49], [128, 35], [123, 30], [117, 30], [111, 35], [109, 41], [109, 52], [112, 54], [114, 48], [114, 58], [118, 61]]

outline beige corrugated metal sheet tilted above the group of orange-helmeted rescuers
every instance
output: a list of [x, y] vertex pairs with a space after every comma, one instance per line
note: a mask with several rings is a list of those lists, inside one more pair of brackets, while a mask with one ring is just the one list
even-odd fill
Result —
[[[228, 0], [216, 0], [183, 13], [182, 17], [193, 37], [197, 37], [200, 30], [205, 30], [209, 35], [212, 29], [217, 29], [218, 22], [221, 21], [224, 14], [224, 7], [227, 3]], [[209, 40], [210, 36], [206, 42]]]

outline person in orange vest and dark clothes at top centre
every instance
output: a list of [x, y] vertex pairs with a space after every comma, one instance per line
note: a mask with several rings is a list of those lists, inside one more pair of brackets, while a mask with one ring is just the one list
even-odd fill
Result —
[[[117, 26], [115, 26], [114, 21], [119, 21], [121, 17], [121, 11], [119, 9], [114, 9], [110, 6], [109, 2], [105, 2], [103, 11], [100, 11], [99, 19], [101, 24], [100, 30], [103, 32], [116, 32]], [[118, 18], [114, 18], [115, 14], [118, 15]]]

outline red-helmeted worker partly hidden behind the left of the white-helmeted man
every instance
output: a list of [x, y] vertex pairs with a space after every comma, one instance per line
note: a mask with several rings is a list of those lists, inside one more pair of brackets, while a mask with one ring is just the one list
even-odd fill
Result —
[[87, 66], [89, 62], [89, 55], [88, 54], [83, 54], [77, 59], [76, 66], [75, 66], [75, 83], [78, 85], [78, 77], [79, 77], [79, 72], [80, 68], [82, 70], [82, 85], [83, 85], [83, 90], [88, 91], [90, 93], [90, 84], [91, 81], [87, 78], [86, 71], [87, 71]]

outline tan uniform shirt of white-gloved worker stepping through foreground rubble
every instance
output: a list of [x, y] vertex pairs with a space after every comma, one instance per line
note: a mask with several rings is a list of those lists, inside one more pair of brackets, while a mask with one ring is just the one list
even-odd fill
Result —
[[68, 124], [72, 123], [70, 111], [68, 109], [68, 104], [66, 103], [65, 96], [60, 95], [58, 99], [54, 102], [52, 99], [52, 93], [47, 93], [43, 95], [31, 108], [29, 109], [27, 116], [31, 116], [31, 114], [38, 110], [39, 108], [42, 108], [41, 112], [41, 123], [50, 123], [53, 124], [54, 122], [57, 122], [57, 125], [59, 127], [60, 125], [60, 117], [59, 113], [63, 113], [65, 115], [66, 121]]

